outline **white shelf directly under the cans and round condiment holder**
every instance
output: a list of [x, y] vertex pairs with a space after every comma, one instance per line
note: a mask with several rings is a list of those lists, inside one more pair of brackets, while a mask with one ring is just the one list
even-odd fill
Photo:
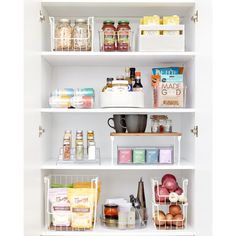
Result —
[[94, 109], [66, 109], [41, 108], [41, 113], [194, 113], [193, 108], [94, 108]]

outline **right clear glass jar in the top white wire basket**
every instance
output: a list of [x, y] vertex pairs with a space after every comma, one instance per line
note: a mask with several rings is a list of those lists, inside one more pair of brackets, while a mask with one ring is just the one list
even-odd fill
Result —
[[76, 19], [73, 28], [73, 48], [76, 51], [91, 51], [91, 29], [85, 19]]

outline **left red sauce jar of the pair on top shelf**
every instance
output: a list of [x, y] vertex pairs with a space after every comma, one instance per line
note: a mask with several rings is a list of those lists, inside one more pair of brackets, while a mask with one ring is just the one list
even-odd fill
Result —
[[116, 49], [116, 28], [115, 22], [112, 20], [105, 20], [103, 22], [103, 50], [115, 51]]

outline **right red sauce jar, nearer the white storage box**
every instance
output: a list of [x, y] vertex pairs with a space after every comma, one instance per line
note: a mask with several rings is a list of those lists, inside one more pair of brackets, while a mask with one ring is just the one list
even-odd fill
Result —
[[117, 50], [129, 51], [130, 48], [130, 26], [128, 20], [118, 21], [117, 27]]

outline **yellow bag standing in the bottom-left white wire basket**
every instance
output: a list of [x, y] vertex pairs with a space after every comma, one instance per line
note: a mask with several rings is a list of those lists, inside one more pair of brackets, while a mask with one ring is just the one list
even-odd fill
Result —
[[94, 188], [68, 189], [71, 203], [71, 226], [74, 230], [92, 229], [94, 222], [95, 197]]

